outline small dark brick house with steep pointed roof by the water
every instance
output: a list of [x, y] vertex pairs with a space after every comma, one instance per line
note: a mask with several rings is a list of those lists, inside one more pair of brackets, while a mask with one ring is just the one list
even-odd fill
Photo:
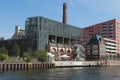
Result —
[[105, 42], [102, 36], [93, 35], [86, 45], [86, 60], [106, 60]]

